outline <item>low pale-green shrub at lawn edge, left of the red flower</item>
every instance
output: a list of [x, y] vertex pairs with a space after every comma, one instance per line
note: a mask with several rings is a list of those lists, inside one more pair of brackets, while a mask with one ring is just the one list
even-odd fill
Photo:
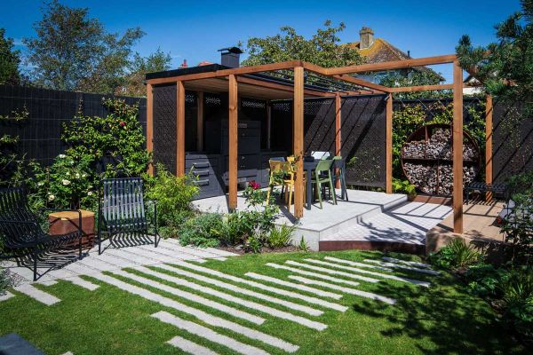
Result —
[[219, 213], [204, 213], [189, 218], [179, 230], [179, 243], [195, 247], [218, 247], [224, 221]]

